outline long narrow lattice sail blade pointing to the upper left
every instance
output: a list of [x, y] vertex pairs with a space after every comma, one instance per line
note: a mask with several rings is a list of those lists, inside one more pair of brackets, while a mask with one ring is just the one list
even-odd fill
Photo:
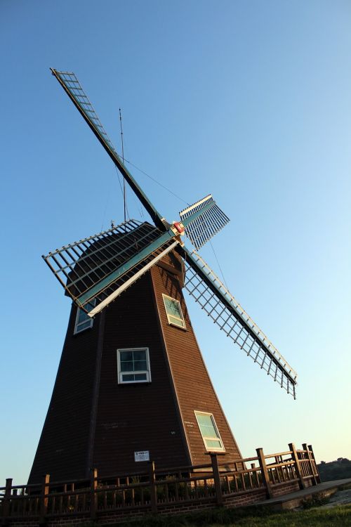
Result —
[[119, 158], [114, 145], [112, 145], [112, 141], [110, 140], [109, 136], [107, 136], [107, 133], [102, 126], [100, 119], [93, 108], [93, 105], [88, 99], [88, 96], [86, 96], [86, 93], [81, 87], [76, 75], [73, 72], [59, 72], [53, 68], [51, 68], [51, 72], [65, 90], [69, 98], [72, 100], [72, 103], [74, 103], [81, 116], [87, 122], [88, 126], [90, 126], [95, 136], [105, 148], [107, 154], [110, 155], [112, 161], [116, 165], [117, 169], [119, 169], [135, 195], [137, 195], [140, 202], [143, 203], [145, 209], [152, 217], [152, 221], [154, 221], [155, 225], [161, 230], [166, 230], [167, 227], [164, 225], [163, 216], [159, 214], [147, 195], [135, 181], [130, 171], [128, 171], [126, 166]]

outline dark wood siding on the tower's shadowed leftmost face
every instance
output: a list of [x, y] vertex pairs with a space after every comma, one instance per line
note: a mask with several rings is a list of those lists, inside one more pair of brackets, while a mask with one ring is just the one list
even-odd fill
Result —
[[99, 316], [74, 335], [72, 306], [65, 344], [29, 483], [50, 474], [53, 481], [86, 477]]

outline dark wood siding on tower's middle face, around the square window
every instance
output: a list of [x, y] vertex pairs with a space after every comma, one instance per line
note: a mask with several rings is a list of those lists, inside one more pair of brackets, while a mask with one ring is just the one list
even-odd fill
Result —
[[[106, 310], [93, 463], [101, 474], [137, 471], [134, 452], [149, 450], [157, 467], [188, 461], [150, 273]], [[147, 347], [152, 382], [118, 384], [117, 349]]]

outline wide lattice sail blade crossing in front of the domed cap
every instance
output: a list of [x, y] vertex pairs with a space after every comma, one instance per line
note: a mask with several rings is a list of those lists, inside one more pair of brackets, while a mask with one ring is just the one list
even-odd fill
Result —
[[43, 258], [74, 304], [93, 316], [176, 245], [169, 233], [130, 220]]

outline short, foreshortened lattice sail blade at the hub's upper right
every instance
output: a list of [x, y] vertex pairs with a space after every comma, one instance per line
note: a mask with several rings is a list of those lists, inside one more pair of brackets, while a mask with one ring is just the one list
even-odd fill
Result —
[[230, 221], [211, 194], [180, 211], [179, 215], [183, 223], [187, 223], [185, 234], [197, 250]]

